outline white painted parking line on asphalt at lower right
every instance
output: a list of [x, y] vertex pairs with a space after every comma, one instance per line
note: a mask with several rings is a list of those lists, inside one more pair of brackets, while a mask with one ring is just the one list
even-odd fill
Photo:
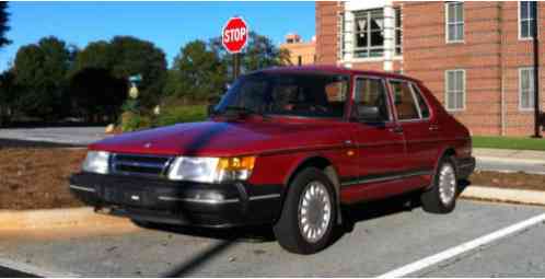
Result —
[[449, 249], [443, 251], [441, 253], [438, 253], [436, 255], [417, 260], [413, 264], [408, 264], [408, 265], [403, 266], [401, 268], [394, 269], [392, 271], [389, 271], [384, 275], [379, 276], [379, 278], [404, 277], [404, 276], [414, 274], [418, 270], [425, 269], [429, 266], [432, 266], [432, 265], [436, 265], [436, 264], [441, 263], [443, 260], [447, 260], [449, 258], [455, 257], [462, 253], [482, 247], [488, 243], [503, 239], [503, 237], [509, 236], [515, 232], [522, 231], [524, 229], [527, 229], [530, 226], [533, 226], [533, 225], [538, 224], [538, 223], [544, 222], [544, 221], [545, 221], [545, 213], [538, 214], [536, 217], [532, 217], [532, 218], [524, 220], [522, 222], [512, 224], [512, 225], [507, 226], [505, 229], [501, 229], [499, 231], [480, 236], [476, 240], [463, 243], [459, 246], [449, 248]]

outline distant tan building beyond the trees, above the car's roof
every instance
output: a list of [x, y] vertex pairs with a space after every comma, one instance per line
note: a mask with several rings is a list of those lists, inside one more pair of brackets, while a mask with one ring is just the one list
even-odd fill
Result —
[[312, 38], [311, 42], [303, 42], [298, 34], [286, 35], [286, 42], [280, 45], [280, 48], [290, 51], [290, 61], [292, 65], [310, 65], [314, 63], [316, 53], [316, 39]]

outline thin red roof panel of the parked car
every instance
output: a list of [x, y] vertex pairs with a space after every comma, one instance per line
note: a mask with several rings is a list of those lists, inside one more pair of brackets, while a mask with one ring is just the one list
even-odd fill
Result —
[[267, 68], [263, 70], [257, 70], [252, 73], [256, 72], [270, 72], [270, 73], [302, 73], [302, 72], [309, 72], [309, 73], [337, 73], [337, 74], [362, 74], [362, 75], [374, 75], [374, 77], [381, 77], [381, 78], [390, 78], [390, 79], [403, 79], [403, 80], [409, 80], [414, 82], [420, 82], [417, 79], [404, 75], [404, 74], [398, 74], [398, 73], [393, 73], [393, 72], [385, 72], [385, 71], [372, 71], [372, 70], [355, 70], [355, 69], [349, 69], [345, 67], [338, 67], [338, 66], [287, 66], [287, 67], [272, 67], [272, 68]]

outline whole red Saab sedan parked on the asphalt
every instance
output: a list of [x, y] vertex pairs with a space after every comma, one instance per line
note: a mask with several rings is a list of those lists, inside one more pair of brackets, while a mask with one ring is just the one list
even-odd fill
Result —
[[286, 249], [326, 247], [340, 208], [420, 193], [454, 209], [475, 168], [467, 129], [418, 80], [335, 67], [239, 78], [202, 123], [89, 146], [71, 191], [137, 224], [270, 224]]

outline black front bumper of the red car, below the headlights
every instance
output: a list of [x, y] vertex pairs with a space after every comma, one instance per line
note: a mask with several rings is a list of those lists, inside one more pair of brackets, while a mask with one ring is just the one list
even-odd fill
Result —
[[70, 191], [96, 210], [140, 221], [212, 228], [272, 223], [280, 213], [281, 189], [280, 185], [217, 185], [91, 173], [70, 177]]

